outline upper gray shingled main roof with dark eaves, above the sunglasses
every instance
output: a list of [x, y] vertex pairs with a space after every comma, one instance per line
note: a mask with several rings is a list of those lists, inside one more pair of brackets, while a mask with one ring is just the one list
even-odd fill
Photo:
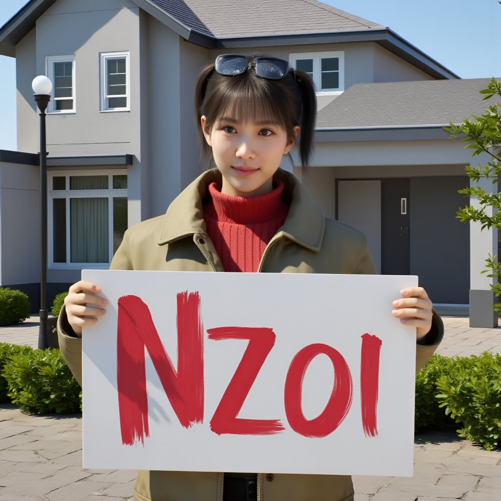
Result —
[[[30, 0], [0, 27], [0, 54], [16, 45], [57, 0]], [[84, 0], [82, 0], [84, 2]], [[456, 79], [387, 27], [317, 0], [132, 0], [186, 41], [208, 49], [373, 42], [438, 79]]]

